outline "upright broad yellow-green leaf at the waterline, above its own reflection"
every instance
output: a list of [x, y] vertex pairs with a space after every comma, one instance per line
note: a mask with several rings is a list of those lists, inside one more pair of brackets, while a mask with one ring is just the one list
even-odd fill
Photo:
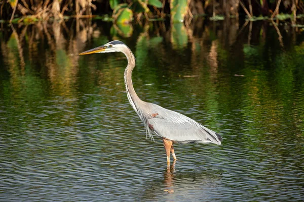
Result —
[[170, 1], [171, 22], [183, 22], [187, 13], [187, 0]]

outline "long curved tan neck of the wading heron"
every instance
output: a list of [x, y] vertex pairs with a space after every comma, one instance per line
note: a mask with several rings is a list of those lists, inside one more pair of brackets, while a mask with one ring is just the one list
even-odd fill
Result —
[[127, 66], [127, 68], [125, 70], [125, 74], [124, 74], [127, 96], [128, 96], [128, 99], [129, 99], [129, 102], [130, 102], [132, 108], [135, 110], [135, 112], [138, 113], [138, 107], [136, 107], [136, 106], [140, 106], [138, 104], [143, 103], [143, 102], [137, 96], [137, 94], [134, 90], [134, 87], [133, 87], [133, 83], [132, 83], [132, 71], [135, 67], [135, 58], [129, 48], [127, 48], [123, 53], [126, 55], [126, 57], [128, 59], [128, 66]]

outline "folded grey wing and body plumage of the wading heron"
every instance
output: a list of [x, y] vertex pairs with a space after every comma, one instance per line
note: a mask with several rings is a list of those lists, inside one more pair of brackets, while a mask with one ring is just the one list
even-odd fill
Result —
[[181, 143], [221, 144], [220, 135], [189, 117], [155, 104], [151, 104], [150, 109], [152, 113], [148, 118], [148, 127], [158, 136]]

